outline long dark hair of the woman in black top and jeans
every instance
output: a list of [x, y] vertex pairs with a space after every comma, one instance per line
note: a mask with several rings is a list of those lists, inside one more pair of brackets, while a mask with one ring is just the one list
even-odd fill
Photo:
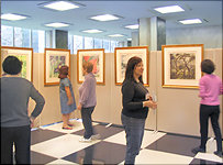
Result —
[[[126, 66], [126, 70], [125, 70], [125, 79], [130, 79], [130, 80], [135, 81], [135, 79], [133, 77], [134, 68], [141, 62], [142, 62], [142, 58], [136, 57], [136, 56], [131, 57], [127, 61], [127, 66]], [[143, 76], [140, 76], [138, 79], [143, 84]]]

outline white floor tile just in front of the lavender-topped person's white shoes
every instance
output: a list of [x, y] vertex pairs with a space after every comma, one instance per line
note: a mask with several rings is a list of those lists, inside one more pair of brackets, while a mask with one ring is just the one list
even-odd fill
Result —
[[62, 158], [100, 141], [79, 142], [80, 135], [66, 134], [31, 146], [32, 151]]

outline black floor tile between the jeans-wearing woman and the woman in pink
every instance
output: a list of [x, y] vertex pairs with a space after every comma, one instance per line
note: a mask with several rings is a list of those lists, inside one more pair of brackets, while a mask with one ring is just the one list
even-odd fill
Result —
[[193, 157], [191, 150], [199, 144], [200, 140], [196, 138], [166, 134], [146, 148]]

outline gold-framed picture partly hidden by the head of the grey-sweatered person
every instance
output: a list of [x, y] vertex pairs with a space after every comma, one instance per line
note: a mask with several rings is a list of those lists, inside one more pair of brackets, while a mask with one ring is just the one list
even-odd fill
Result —
[[22, 62], [21, 76], [33, 81], [33, 48], [1, 46], [1, 75], [2, 63], [8, 56], [16, 56]]

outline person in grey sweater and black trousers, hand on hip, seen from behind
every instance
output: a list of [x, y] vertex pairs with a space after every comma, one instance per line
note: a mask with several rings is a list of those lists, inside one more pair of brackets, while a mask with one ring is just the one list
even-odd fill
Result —
[[[1, 77], [1, 164], [31, 164], [31, 128], [45, 105], [43, 96], [33, 84], [21, 77], [22, 63], [15, 56], [8, 56]], [[29, 117], [29, 99], [35, 108]]]

